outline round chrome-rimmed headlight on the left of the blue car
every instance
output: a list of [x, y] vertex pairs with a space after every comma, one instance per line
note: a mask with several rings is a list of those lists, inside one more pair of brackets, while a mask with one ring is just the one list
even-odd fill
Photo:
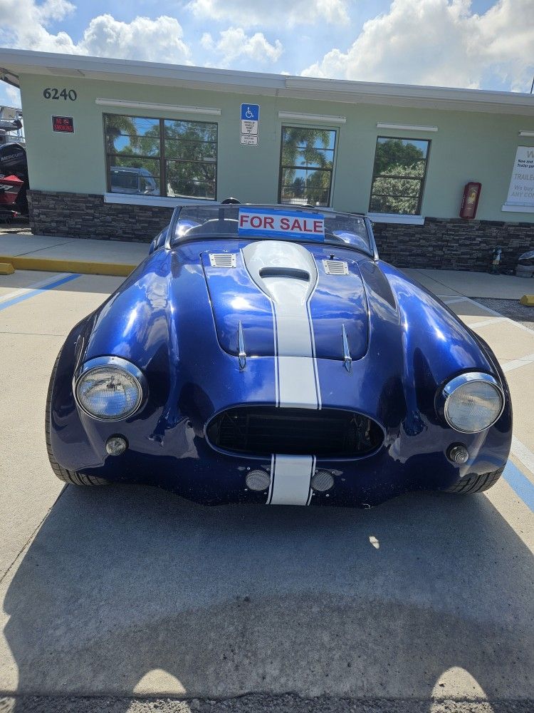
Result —
[[137, 366], [117, 357], [92, 359], [83, 365], [75, 394], [85, 413], [102, 421], [122, 421], [139, 408], [144, 381]]

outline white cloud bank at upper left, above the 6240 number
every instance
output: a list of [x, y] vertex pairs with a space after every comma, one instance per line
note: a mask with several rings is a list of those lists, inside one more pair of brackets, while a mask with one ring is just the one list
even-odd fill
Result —
[[191, 63], [190, 49], [182, 39], [177, 19], [135, 17], [120, 22], [111, 15], [93, 18], [79, 42], [66, 32], [51, 34], [51, 21], [61, 21], [75, 7], [66, 0], [3, 0], [0, 44], [14, 48], [68, 54], [90, 54], [172, 63]]

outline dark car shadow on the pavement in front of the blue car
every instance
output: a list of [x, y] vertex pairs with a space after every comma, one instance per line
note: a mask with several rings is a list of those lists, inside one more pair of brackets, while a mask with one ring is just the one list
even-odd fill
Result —
[[498, 713], [534, 698], [533, 564], [486, 496], [207, 508], [69, 486], [9, 583], [4, 635], [19, 694], [482, 689]]

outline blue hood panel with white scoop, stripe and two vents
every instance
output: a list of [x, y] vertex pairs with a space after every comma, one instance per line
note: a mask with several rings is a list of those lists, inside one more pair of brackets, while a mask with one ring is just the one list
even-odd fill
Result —
[[262, 240], [201, 255], [217, 338], [229, 354], [361, 359], [369, 311], [357, 262]]

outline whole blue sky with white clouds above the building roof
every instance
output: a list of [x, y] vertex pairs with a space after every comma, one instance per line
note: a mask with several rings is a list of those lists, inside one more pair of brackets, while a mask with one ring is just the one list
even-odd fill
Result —
[[504, 91], [534, 75], [534, 0], [0, 0], [0, 16], [4, 47]]

